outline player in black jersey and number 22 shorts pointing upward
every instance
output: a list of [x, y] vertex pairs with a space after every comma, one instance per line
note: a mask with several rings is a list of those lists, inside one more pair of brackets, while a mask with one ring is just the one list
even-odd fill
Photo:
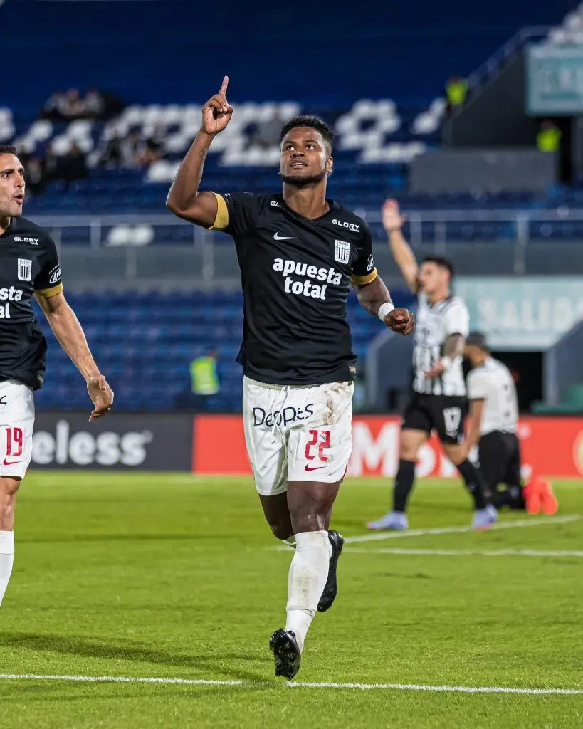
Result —
[[[243, 421], [254, 479], [275, 537], [295, 547], [285, 630], [270, 647], [275, 674], [294, 677], [305, 635], [336, 596], [343, 538], [328, 531], [351, 453], [356, 357], [345, 319], [350, 286], [361, 305], [409, 334], [377, 276], [362, 219], [326, 199], [332, 131], [297, 117], [281, 133], [283, 195], [199, 192], [214, 136], [230, 122], [225, 77], [168, 194], [168, 208], [235, 238], [244, 298]], [[228, 443], [225, 444], [228, 451]]]

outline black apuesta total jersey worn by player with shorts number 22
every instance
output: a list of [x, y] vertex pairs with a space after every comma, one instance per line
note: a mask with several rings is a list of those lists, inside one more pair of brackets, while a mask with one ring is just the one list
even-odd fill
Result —
[[217, 200], [214, 229], [235, 239], [243, 284], [244, 373], [283, 385], [353, 380], [348, 292], [351, 281], [377, 276], [365, 222], [333, 200], [316, 219], [291, 210], [283, 195]]

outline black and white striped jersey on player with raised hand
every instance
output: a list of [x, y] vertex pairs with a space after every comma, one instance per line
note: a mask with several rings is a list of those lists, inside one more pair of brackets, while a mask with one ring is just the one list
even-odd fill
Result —
[[413, 367], [415, 392], [427, 395], [465, 395], [466, 383], [461, 367], [462, 357], [457, 357], [447, 372], [429, 380], [425, 373], [443, 356], [443, 346], [450, 334], [469, 333], [469, 311], [458, 296], [450, 296], [431, 304], [425, 294], [418, 298], [415, 315], [415, 349]]

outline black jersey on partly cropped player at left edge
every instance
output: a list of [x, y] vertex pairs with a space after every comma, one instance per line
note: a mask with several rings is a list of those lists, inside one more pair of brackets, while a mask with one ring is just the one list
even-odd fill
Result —
[[12, 218], [0, 235], [0, 380], [39, 389], [47, 340], [34, 316], [35, 292], [63, 289], [55, 242], [26, 218]]

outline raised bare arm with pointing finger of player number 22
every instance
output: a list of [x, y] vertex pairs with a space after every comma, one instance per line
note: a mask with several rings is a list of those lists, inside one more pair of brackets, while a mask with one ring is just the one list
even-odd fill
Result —
[[207, 228], [214, 225], [219, 203], [214, 192], [199, 192], [198, 187], [208, 148], [232, 117], [233, 109], [227, 101], [228, 83], [229, 77], [225, 76], [219, 93], [203, 106], [203, 124], [182, 160], [166, 199], [168, 210], [179, 218]]

